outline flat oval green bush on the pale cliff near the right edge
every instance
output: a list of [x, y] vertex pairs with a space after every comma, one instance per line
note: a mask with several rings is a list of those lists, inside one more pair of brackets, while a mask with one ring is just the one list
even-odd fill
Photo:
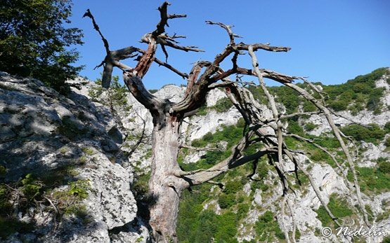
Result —
[[357, 124], [351, 124], [342, 127], [341, 130], [347, 136], [353, 137], [356, 141], [366, 141], [377, 144], [378, 140], [382, 140], [386, 132], [377, 124], [369, 124], [369, 127], [363, 127]]

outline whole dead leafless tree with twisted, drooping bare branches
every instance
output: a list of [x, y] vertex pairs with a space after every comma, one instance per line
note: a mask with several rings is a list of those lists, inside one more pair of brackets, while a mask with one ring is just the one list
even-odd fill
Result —
[[[134, 46], [128, 46], [120, 50], [110, 50], [108, 41], [100, 32], [91, 12], [88, 10], [84, 14], [84, 17], [91, 18], [93, 27], [100, 34], [105, 46], [105, 60], [98, 66], [104, 67], [103, 87], [110, 87], [112, 69], [114, 67], [122, 69], [124, 83], [127, 88], [129, 88], [129, 91], [134, 95], [138, 102], [143, 104], [143, 106], [152, 114], [154, 127], [152, 130], [152, 163], [150, 165], [151, 176], [149, 181], [149, 193], [153, 200], [149, 208], [149, 223], [155, 241], [177, 242], [176, 221], [178, 216], [178, 204], [184, 189], [211, 181], [216, 176], [219, 176], [230, 169], [244, 165], [247, 162], [255, 162], [265, 155], [271, 160], [272, 165], [274, 165], [276, 172], [278, 172], [278, 175], [280, 176], [284, 195], [288, 195], [291, 191], [289, 186], [290, 182], [288, 181], [287, 176], [285, 176], [286, 170], [284, 164], [286, 161], [292, 161], [295, 163], [297, 169], [301, 169], [304, 174], [308, 175], [311, 186], [313, 186], [317, 193], [320, 202], [323, 203], [328, 214], [330, 214], [338, 224], [337, 218], [335, 218], [332, 215], [332, 212], [326, 207], [326, 204], [319, 193], [318, 186], [316, 186], [310, 174], [308, 174], [301, 165], [301, 161], [297, 159], [297, 153], [301, 152], [292, 151], [287, 148], [284, 137], [293, 136], [293, 134], [287, 134], [285, 127], [283, 127], [282, 119], [288, 116], [284, 117], [278, 111], [273, 95], [271, 95], [266, 88], [264, 78], [277, 81], [282, 85], [286, 85], [287, 87], [296, 90], [297, 95], [303, 96], [318, 108], [317, 113], [323, 113], [325, 115], [330, 127], [332, 127], [334, 136], [339, 140], [339, 144], [346, 155], [348, 165], [353, 172], [355, 187], [353, 188], [353, 186], [351, 186], [351, 190], [356, 192], [358, 202], [360, 203], [360, 209], [364, 215], [364, 221], [368, 223], [349, 148], [342, 139], [342, 133], [334, 125], [330, 111], [321, 100], [315, 99], [309, 92], [294, 85], [294, 80], [304, 80], [303, 78], [279, 74], [271, 70], [259, 69], [259, 63], [257, 62], [255, 55], [257, 50], [287, 52], [290, 48], [270, 46], [269, 44], [261, 43], [236, 43], [235, 38], [237, 38], [238, 35], [232, 32], [229, 25], [224, 25], [220, 22], [207, 21], [206, 23], [208, 25], [217, 25], [226, 30], [229, 38], [228, 45], [221, 53], [216, 55], [213, 61], [196, 62], [189, 74], [183, 73], [167, 63], [167, 48], [174, 48], [186, 52], [200, 52], [202, 50], [195, 46], [180, 46], [176, 39], [183, 36], [176, 36], [176, 34], [169, 36], [169, 34], [165, 32], [165, 27], [169, 26], [168, 20], [186, 17], [186, 15], [171, 15], [167, 13], [168, 6], [169, 3], [164, 2], [164, 4], [158, 8], [161, 17], [160, 22], [157, 24], [154, 32], [145, 34], [142, 37], [141, 41], [148, 46], [145, 50]], [[162, 48], [162, 51], [165, 54], [165, 62], [157, 59], [155, 56], [158, 46]], [[237, 63], [238, 57], [247, 54], [249, 54], [249, 57], [252, 60], [252, 67], [239, 67]], [[136, 67], [129, 67], [121, 62], [129, 57], [136, 57]], [[231, 57], [231, 68], [224, 70], [221, 68], [220, 64], [226, 61], [228, 57]], [[174, 71], [178, 76], [186, 78], [188, 82], [186, 94], [181, 102], [174, 103], [169, 101], [169, 99], [160, 99], [155, 95], [152, 95], [145, 88], [142, 78], [153, 63], [166, 67], [167, 69]], [[268, 99], [268, 106], [273, 114], [271, 118], [265, 118], [262, 115], [263, 111], [261, 106], [245, 88], [245, 85], [240, 82], [240, 78], [236, 78], [235, 81], [230, 79], [230, 77], [234, 75], [254, 76], [258, 79], [259, 86]], [[318, 91], [315, 86], [311, 87], [314, 91]], [[245, 134], [243, 134], [241, 141], [233, 146], [231, 155], [225, 160], [217, 162], [216, 165], [209, 169], [199, 169], [190, 172], [183, 171], [177, 162], [180, 148], [185, 147], [185, 145], [182, 144], [180, 137], [183, 119], [194, 115], [197, 112], [197, 109], [204, 105], [207, 93], [215, 88], [225, 88], [226, 95], [242, 114], [247, 129], [245, 129]], [[301, 113], [289, 116], [299, 115], [301, 115]], [[243, 151], [252, 144], [259, 144], [256, 153], [245, 155]], [[290, 200], [284, 200], [285, 203], [287, 201], [289, 203], [288, 206], [291, 209]], [[284, 209], [284, 203], [282, 206]], [[287, 242], [290, 242], [291, 237], [289, 236], [289, 232], [285, 232], [285, 235]], [[292, 235], [294, 235], [294, 232], [292, 232]], [[292, 240], [294, 241], [294, 238], [292, 238]]]

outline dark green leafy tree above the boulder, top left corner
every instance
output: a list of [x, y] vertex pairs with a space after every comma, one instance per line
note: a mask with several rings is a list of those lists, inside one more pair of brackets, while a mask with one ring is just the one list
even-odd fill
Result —
[[82, 69], [72, 66], [79, 55], [68, 48], [82, 44], [81, 30], [65, 27], [71, 14], [70, 0], [1, 1], [1, 69], [67, 92], [65, 81]]

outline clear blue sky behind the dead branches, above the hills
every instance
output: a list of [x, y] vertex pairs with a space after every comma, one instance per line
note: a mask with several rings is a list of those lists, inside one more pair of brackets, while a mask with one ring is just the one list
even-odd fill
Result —
[[[245, 43], [271, 43], [289, 46], [288, 53], [258, 51], [261, 68], [284, 74], [306, 76], [324, 84], [344, 83], [360, 74], [390, 66], [390, 1], [385, 0], [261, 0], [261, 1], [169, 1], [169, 13], [186, 13], [185, 19], [169, 21], [169, 34], [186, 35], [184, 46], [199, 46], [204, 53], [184, 53], [168, 49], [169, 64], [189, 72], [197, 60], [213, 60], [228, 44], [228, 36], [205, 20], [234, 25], [233, 32]], [[82, 18], [87, 8], [96, 18], [110, 49], [126, 46], [146, 48], [139, 43], [143, 34], [152, 32], [160, 20], [157, 7], [162, 1], [74, 1], [72, 27], [84, 31], [84, 46], [78, 50], [81, 72], [91, 80], [102, 69], [93, 68], [103, 60], [105, 50], [91, 20]], [[161, 51], [157, 53], [164, 60]], [[131, 67], [134, 62], [124, 61]], [[249, 56], [239, 64], [250, 68]], [[230, 67], [226, 62], [226, 68]], [[122, 77], [122, 73], [116, 73]], [[251, 80], [252, 78], [248, 78]], [[149, 89], [167, 83], [185, 84], [181, 77], [154, 64], [143, 79]]]

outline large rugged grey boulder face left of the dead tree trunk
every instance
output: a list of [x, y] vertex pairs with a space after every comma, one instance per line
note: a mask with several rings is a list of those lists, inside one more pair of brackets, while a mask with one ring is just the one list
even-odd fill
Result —
[[[22, 205], [2, 211], [1, 223], [33, 226], [7, 228], [1, 242], [148, 240], [136, 219], [133, 174], [122, 167], [127, 159], [107, 107], [0, 73], [0, 127], [1, 202], [7, 196]], [[4, 193], [3, 183], [13, 193]], [[30, 197], [27, 189], [33, 186], [39, 190]]]

